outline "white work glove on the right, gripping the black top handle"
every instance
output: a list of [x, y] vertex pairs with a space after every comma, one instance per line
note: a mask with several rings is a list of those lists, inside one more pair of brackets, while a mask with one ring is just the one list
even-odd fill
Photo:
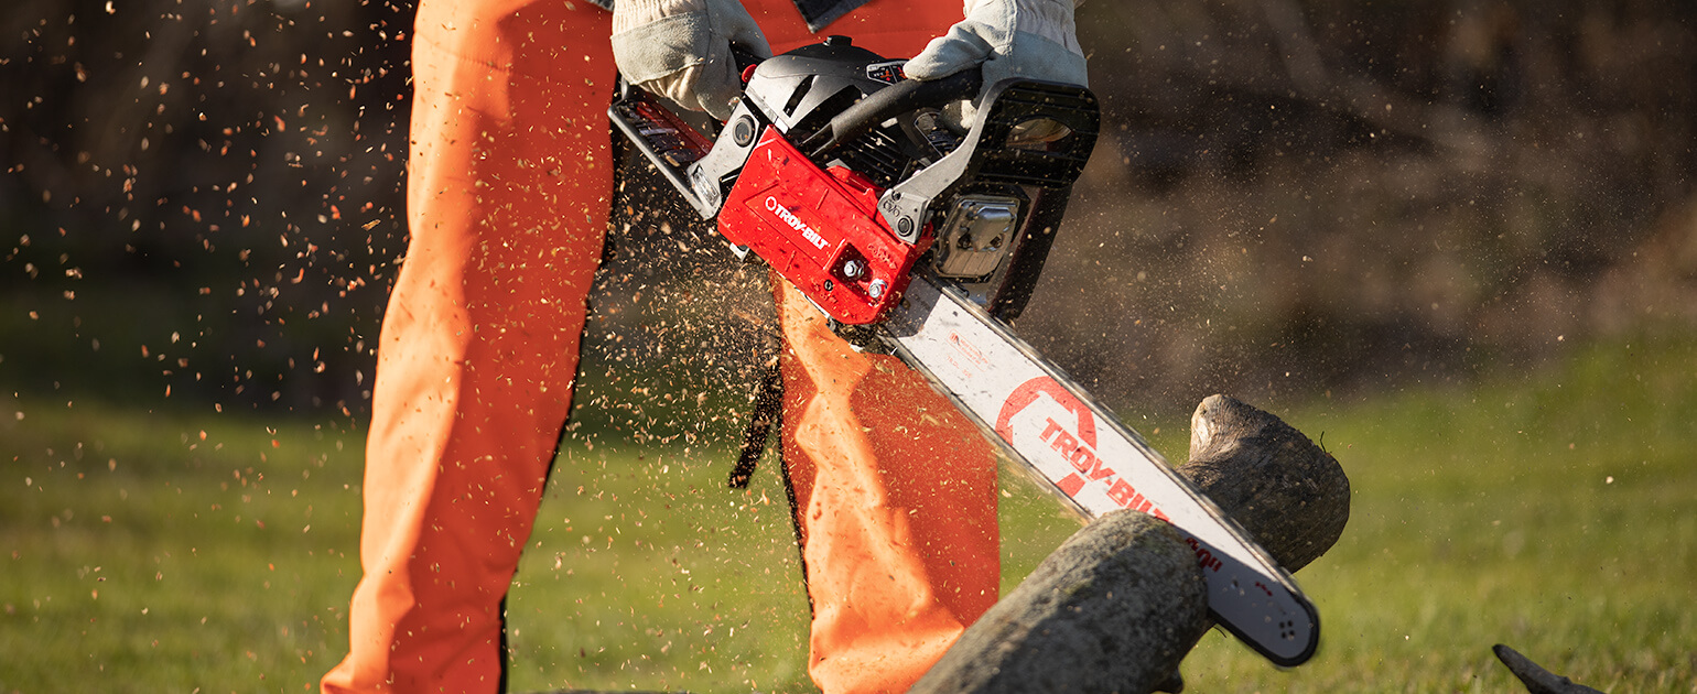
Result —
[[1074, 0], [966, 0], [966, 19], [932, 39], [903, 70], [915, 80], [940, 80], [983, 63], [986, 90], [1011, 76], [1088, 87], [1074, 5]]

